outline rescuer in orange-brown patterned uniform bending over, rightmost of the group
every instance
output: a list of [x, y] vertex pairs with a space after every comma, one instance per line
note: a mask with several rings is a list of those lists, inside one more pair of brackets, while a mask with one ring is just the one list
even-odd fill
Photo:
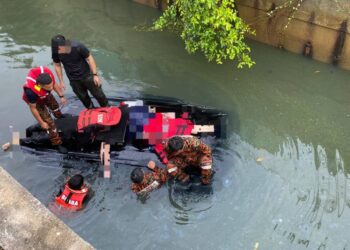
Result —
[[210, 184], [213, 174], [212, 151], [200, 139], [194, 136], [173, 136], [165, 142], [164, 152], [168, 159], [166, 167], [169, 175], [186, 182], [190, 176], [185, 170], [191, 166], [199, 168], [202, 184]]

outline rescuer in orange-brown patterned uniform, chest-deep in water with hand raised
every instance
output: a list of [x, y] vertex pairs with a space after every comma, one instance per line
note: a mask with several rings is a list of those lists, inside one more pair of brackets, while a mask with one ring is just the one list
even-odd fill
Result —
[[131, 190], [137, 195], [145, 195], [160, 188], [167, 180], [166, 171], [157, 167], [154, 161], [150, 161], [147, 167], [152, 172], [145, 173], [142, 168], [135, 168], [131, 172]]

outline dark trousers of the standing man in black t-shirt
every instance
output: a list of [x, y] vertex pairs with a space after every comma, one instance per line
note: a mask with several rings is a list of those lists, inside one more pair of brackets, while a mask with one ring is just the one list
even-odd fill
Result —
[[88, 91], [93, 97], [96, 98], [101, 107], [109, 106], [106, 95], [103, 93], [102, 87], [95, 85], [93, 77], [89, 77], [85, 80], [72, 80], [70, 81], [73, 92], [77, 95], [80, 101], [84, 104], [86, 108], [92, 108], [93, 103], [88, 94]]

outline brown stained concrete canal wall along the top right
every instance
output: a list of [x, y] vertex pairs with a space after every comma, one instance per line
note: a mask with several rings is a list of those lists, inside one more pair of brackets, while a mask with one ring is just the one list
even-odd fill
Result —
[[[167, 6], [167, 0], [134, 1], [158, 9]], [[290, 7], [280, 8], [284, 3]], [[350, 69], [350, 1], [236, 0], [236, 5], [239, 15], [256, 30], [252, 39]], [[290, 22], [289, 17], [293, 17]]]

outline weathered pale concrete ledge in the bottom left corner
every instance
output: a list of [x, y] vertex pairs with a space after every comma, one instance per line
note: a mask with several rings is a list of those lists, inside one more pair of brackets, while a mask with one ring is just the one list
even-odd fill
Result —
[[94, 249], [0, 167], [0, 249]]

